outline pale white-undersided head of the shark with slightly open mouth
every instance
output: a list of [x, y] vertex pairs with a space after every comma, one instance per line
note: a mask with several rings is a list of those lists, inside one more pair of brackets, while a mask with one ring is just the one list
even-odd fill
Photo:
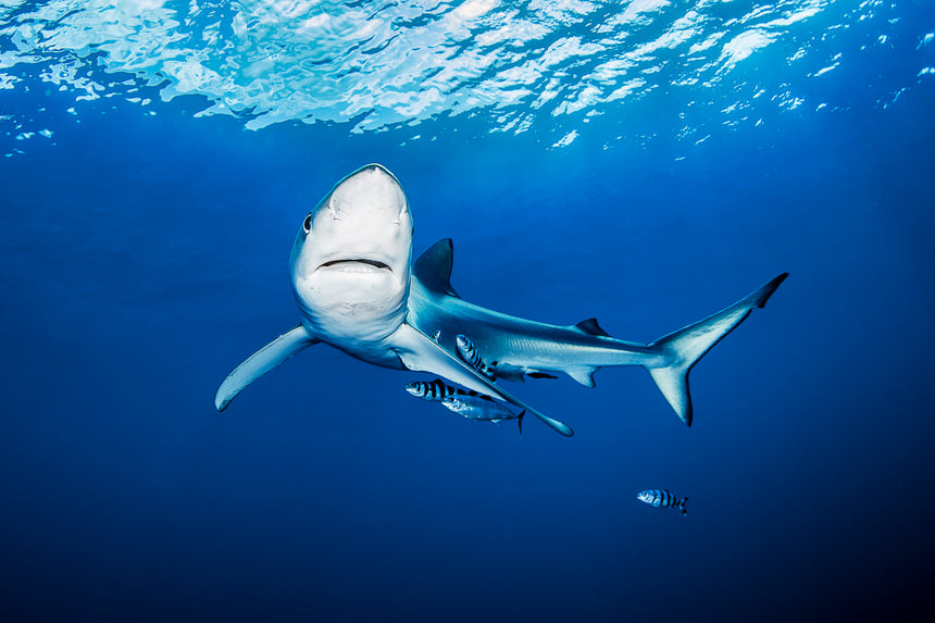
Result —
[[306, 328], [351, 346], [391, 334], [407, 313], [412, 230], [402, 187], [385, 167], [338, 182], [302, 221], [289, 258]]

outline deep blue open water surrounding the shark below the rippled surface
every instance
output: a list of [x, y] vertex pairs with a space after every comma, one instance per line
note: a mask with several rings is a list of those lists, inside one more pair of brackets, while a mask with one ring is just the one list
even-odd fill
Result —
[[[931, 82], [609, 150], [600, 122], [565, 149], [466, 120], [400, 146], [4, 97], [57, 128], [0, 161], [4, 619], [933, 613]], [[370, 161], [416, 249], [453, 237], [454, 287], [509, 313], [649, 341], [791, 276], [693, 372], [690, 429], [640, 370], [518, 386], [576, 431], [521, 437], [323, 346], [219, 414], [224, 376], [298, 320], [308, 208]]]

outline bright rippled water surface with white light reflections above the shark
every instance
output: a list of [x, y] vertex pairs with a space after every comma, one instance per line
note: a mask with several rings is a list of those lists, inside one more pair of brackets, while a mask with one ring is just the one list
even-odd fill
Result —
[[[159, 85], [164, 101], [201, 96], [199, 116], [235, 115], [250, 129], [301, 121], [371, 132], [485, 113], [491, 130], [522, 133], [623, 114], [649, 97], [736, 111], [766, 88], [761, 101], [796, 109], [805, 95], [786, 92], [788, 79], [749, 82], [749, 59], [789, 66], [885, 10], [878, 0], [12, 2], [0, 9], [0, 84], [38, 76], [76, 100]], [[809, 26], [819, 15], [833, 26]], [[800, 75], [839, 66], [834, 53], [815, 53]]]

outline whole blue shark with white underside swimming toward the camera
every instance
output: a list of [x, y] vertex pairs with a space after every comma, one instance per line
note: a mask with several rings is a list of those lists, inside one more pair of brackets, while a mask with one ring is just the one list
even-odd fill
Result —
[[[289, 278], [301, 322], [254, 352], [223, 381], [223, 411], [241, 390], [299, 351], [325, 344], [359, 360], [444, 377], [527, 413], [571, 437], [572, 428], [508, 391], [521, 382], [564, 373], [587, 387], [601, 367], [643, 366], [675, 414], [693, 422], [688, 373], [753, 309], [762, 308], [788, 273], [739, 301], [640, 344], [611, 337], [588, 319], [553, 325], [463, 300], [451, 286], [453, 244], [439, 240], [412, 261], [413, 219], [397, 177], [367, 164], [340, 179], [306, 215], [289, 254]], [[493, 374], [458, 357], [469, 337]]]

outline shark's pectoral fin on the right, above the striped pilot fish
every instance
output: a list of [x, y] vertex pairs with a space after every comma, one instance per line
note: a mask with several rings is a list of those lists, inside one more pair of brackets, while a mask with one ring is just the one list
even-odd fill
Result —
[[540, 413], [537, 409], [511, 396], [499, 385], [458, 359], [453, 353], [445, 350], [437, 341], [412, 325], [403, 323], [392, 335], [391, 341], [392, 349], [409, 370], [438, 374], [469, 389], [495, 396], [532, 413], [565, 437], [574, 435], [571, 426]]

